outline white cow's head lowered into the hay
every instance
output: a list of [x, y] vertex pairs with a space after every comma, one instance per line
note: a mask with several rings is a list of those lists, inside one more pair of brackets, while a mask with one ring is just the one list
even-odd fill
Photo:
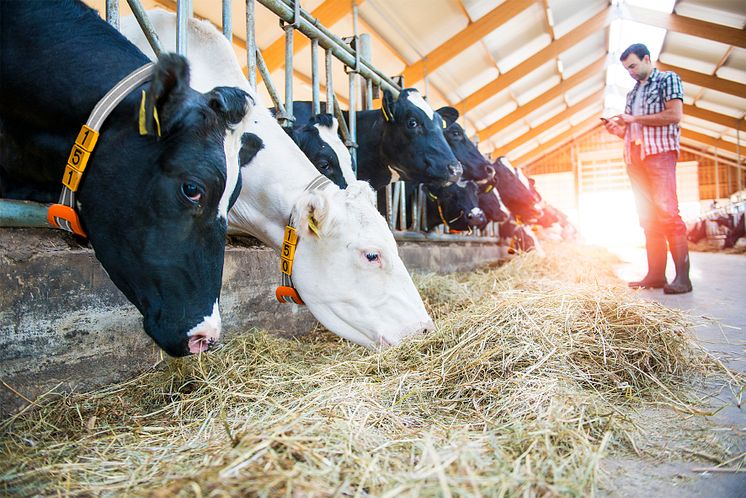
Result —
[[292, 217], [295, 288], [325, 327], [367, 347], [433, 328], [373, 195], [363, 181], [306, 192]]

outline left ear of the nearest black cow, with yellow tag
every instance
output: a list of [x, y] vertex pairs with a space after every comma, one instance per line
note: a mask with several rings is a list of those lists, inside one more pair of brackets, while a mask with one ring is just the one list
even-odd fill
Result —
[[177, 54], [162, 54], [140, 108], [140, 134], [166, 134], [178, 121], [189, 92], [189, 64]]

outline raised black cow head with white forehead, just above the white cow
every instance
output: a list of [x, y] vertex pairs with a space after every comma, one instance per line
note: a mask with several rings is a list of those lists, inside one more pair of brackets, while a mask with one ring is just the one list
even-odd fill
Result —
[[457, 182], [462, 167], [443, 136], [445, 122], [420, 92], [383, 94], [383, 159], [402, 180], [444, 186]]

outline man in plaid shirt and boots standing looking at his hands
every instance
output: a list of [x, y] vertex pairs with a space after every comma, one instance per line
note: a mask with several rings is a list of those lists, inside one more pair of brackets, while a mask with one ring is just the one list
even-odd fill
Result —
[[[605, 120], [606, 130], [624, 139], [624, 161], [645, 230], [648, 273], [633, 288], [663, 287], [666, 294], [691, 292], [686, 225], [676, 196], [676, 160], [684, 89], [674, 72], [662, 73], [650, 62], [648, 48], [635, 43], [619, 58], [637, 81], [627, 94], [624, 114]], [[666, 241], [676, 278], [666, 281]]]

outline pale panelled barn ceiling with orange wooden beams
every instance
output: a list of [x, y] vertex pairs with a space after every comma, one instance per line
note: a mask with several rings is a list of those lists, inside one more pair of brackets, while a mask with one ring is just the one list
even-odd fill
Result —
[[[103, 12], [104, 0], [86, 0]], [[173, 0], [143, 0], [175, 10]], [[353, 34], [353, 0], [303, 0], [339, 36]], [[373, 63], [456, 107], [484, 153], [527, 165], [623, 110], [633, 81], [619, 63], [648, 44], [660, 69], [684, 82], [682, 142], [743, 157], [746, 136], [746, 2], [742, 0], [356, 0]], [[122, 15], [129, 10], [120, 0]], [[246, 65], [245, 0], [233, 0], [234, 46]], [[193, 0], [195, 16], [221, 25], [219, 0]], [[655, 10], [654, 10], [655, 9]], [[282, 94], [283, 31], [257, 3], [257, 44]], [[310, 49], [296, 36], [294, 98], [310, 99]], [[323, 81], [323, 78], [322, 78]], [[341, 63], [334, 90], [348, 100]], [[270, 102], [265, 94], [266, 102]], [[746, 130], [744, 130], [746, 131]], [[738, 142], [740, 138], [740, 144]], [[740, 147], [739, 147], [740, 145]]]

